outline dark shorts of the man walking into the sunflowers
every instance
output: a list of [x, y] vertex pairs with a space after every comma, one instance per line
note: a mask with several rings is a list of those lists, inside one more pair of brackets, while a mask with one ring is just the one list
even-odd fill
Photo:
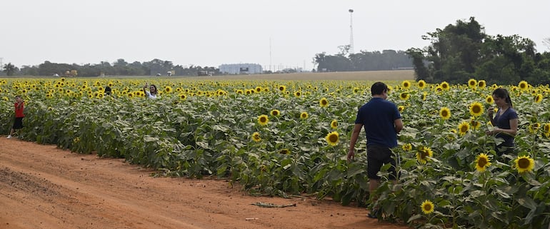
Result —
[[396, 163], [393, 158], [394, 152], [390, 148], [384, 146], [367, 146], [366, 148], [366, 173], [369, 179], [380, 180], [380, 177], [376, 175], [380, 171], [380, 168], [384, 164], [390, 163], [391, 167], [388, 169], [390, 173], [389, 179], [395, 180], [397, 177]]

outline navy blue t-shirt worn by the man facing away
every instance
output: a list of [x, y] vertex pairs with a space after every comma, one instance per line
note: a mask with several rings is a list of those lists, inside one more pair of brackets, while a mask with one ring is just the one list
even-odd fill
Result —
[[397, 146], [394, 121], [401, 118], [397, 106], [384, 98], [371, 98], [357, 112], [355, 123], [362, 123], [366, 133], [366, 145]]

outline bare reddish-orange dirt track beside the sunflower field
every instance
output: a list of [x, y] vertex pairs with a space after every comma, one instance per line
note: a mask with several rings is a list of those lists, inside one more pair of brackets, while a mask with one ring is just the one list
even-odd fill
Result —
[[[407, 228], [331, 200], [257, 197], [226, 180], [152, 172], [0, 137], [0, 228]], [[252, 205], [258, 202], [296, 206]]]

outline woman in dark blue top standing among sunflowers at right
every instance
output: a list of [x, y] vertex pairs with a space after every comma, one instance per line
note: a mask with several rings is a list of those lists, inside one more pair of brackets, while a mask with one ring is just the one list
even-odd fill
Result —
[[501, 138], [502, 143], [495, 147], [496, 154], [501, 156], [503, 153], [514, 153], [514, 136], [518, 131], [518, 114], [514, 110], [508, 91], [504, 88], [496, 88], [493, 91], [493, 100], [499, 110], [494, 115], [493, 108], [489, 108], [489, 120], [495, 127], [492, 131], [487, 131], [487, 135], [494, 135]]

